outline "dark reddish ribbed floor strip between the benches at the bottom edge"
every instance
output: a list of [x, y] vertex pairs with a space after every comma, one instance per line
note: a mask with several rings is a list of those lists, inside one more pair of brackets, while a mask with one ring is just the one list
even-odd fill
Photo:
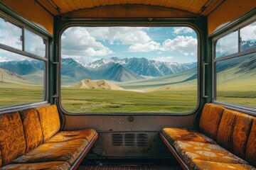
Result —
[[173, 165], [82, 165], [78, 170], [181, 170]]

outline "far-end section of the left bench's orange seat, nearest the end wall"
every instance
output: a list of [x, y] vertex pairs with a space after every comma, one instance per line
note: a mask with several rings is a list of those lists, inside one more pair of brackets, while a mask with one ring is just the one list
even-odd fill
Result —
[[96, 131], [92, 129], [88, 130], [75, 130], [75, 131], [62, 131], [51, 137], [47, 143], [53, 142], [65, 142], [76, 139], [86, 139], [87, 142], [92, 140], [92, 137], [96, 135]]

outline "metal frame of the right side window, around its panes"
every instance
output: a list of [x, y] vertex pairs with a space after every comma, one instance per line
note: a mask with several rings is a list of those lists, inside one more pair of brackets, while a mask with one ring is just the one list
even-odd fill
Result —
[[[225, 106], [226, 108], [231, 108], [237, 110], [237, 111], [242, 111], [245, 113], [248, 113], [250, 115], [255, 115], [256, 112], [256, 108], [252, 108], [249, 106], [240, 106], [238, 104], [235, 103], [225, 103], [223, 101], [218, 101], [217, 100], [217, 72], [216, 72], [216, 63], [217, 62], [221, 62], [221, 61], [225, 61], [225, 60], [230, 60], [233, 58], [237, 58], [237, 57], [242, 57], [245, 55], [250, 55], [252, 53], [256, 52], [256, 47], [255, 48], [251, 48], [249, 50], [244, 50], [241, 51], [241, 43], [240, 43], [240, 29], [245, 28], [246, 26], [249, 26], [251, 23], [256, 22], [256, 15], [252, 16], [250, 18], [248, 18], [247, 20], [243, 21], [242, 23], [237, 24], [236, 26], [234, 26], [233, 28], [230, 28], [228, 30], [226, 30], [224, 33], [221, 33], [218, 36], [213, 37], [212, 39], [212, 102], [215, 104], [218, 104], [220, 106]], [[232, 23], [231, 23], [232, 24]], [[215, 50], [216, 50], [216, 44], [217, 41], [220, 40], [220, 38], [223, 38], [225, 35], [228, 35], [234, 31], [238, 30], [238, 52], [233, 53], [231, 55], [225, 55], [223, 57], [215, 57]]]

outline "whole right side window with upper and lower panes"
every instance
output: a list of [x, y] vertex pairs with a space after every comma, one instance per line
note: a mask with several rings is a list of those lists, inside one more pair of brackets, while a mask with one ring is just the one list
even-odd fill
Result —
[[215, 44], [215, 100], [256, 108], [256, 22]]

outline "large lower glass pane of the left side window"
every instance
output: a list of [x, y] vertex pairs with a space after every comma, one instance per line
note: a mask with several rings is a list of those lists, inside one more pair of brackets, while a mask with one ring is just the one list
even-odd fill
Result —
[[44, 101], [44, 62], [0, 49], [0, 107]]

